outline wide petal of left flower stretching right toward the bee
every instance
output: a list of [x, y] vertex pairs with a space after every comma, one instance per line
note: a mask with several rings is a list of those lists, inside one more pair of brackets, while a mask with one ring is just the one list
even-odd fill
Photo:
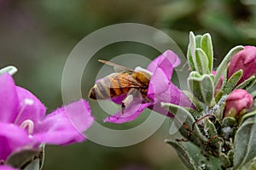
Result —
[[83, 99], [62, 107], [35, 125], [35, 141], [46, 144], [72, 144], [85, 139], [82, 131], [90, 127], [93, 118], [90, 108]]

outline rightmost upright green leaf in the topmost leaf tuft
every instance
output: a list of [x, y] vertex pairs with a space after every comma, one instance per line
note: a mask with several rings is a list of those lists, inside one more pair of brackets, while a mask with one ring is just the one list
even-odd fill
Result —
[[201, 37], [201, 49], [207, 54], [208, 68], [212, 72], [213, 66], [213, 49], [212, 49], [212, 38], [209, 33], [204, 34]]

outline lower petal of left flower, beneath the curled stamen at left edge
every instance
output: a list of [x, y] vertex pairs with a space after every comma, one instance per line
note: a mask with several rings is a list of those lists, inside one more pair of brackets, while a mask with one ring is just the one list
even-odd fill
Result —
[[10, 123], [0, 123], [0, 161], [13, 152], [32, 144], [24, 129]]

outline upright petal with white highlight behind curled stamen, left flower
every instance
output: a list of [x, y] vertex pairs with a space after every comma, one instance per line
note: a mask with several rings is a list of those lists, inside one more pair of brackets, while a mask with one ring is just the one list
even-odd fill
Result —
[[39, 119], [45, 115], [45, 106], [36, 96], [25, 88], [16, 86], [16, 91], [20, 101], [20, 111], [15, 124], [20, 125], [20, 123], [27, 119], [32, 122], [38, 122]]

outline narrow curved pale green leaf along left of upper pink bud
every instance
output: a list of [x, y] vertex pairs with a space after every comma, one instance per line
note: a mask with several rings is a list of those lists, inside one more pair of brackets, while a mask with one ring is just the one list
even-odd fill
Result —
[[236, 46], [235, 48], [230, 49], [230, 52], [228, 54], [226, 54], [226, 56], [224, 57], [224, 59], [222, 60], [221, 64], [218, 66], [218, 69], [216, 71], [216, 75], [214, 78], [214, 87], [218, 84], [218, 81], [220, 79], [220, 77], [223, 75], [225, 69], [227, 68], [227, 66], [229, 65], [230, 60], [232, 59], [232, 57], [238, 53], [239, 51], [241, 51], [241, 49], [243, 49], [243, 46]]

